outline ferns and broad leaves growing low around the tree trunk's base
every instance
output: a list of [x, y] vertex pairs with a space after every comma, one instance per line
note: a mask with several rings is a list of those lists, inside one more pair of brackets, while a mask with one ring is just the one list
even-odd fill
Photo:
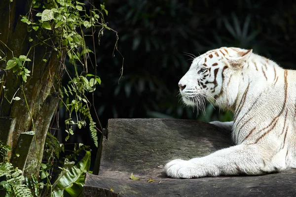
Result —
[[[57, 142], [57, 139], [49, 134], [47, 141], [49, 142], [52, 140], [53, 143], [51, 143], [51, 145]], [[62, 147], [60, 144], [59, 146]], [[54, 147], [56, 146], [47, 148], [54, 151]], [[7, 145], [0, 143], [1, 153], [7, 155], [7, 151], [9, 150], [10, 148], [7, 147]], [[84, 157], [81, 160], [78, 160], [77, 164], [75, 164], [74, 161], [77, 161], [76, 156], [82, 151], [85, 153]], [[55, 153], [58, 152], [59, 151], [56, 151]], [[46, 153], [48, 153], [48, 151]], [[60, 153], [57, 155], [60, 155]], [[56, 160], [50, 164], [41, 164], [41, 181], [39, 181], [34, 174], [31, 178], [25, 178], [22, 175], [22, 170], [14, 168], [12, 164], [7, 161], [5, 163], [0, 163], [0, 178], [2, 180], [0, 182], [0, 189], [5, 191], [5, 197], [82, 196], [85, 172], [87, 172], [90, 167], [90, 155], [90, 151], [86, 151], [85, 146], [79, 145], [77, 149], [74, 149], [72, 157], [67, 155], [66, 157], [68, 159], [64, 158], [62, 165], [57, 165]], [[53, 157], [55, 157], [55, 154], [53, 154]], [[51, 157], [48, 157], [48, 159], [51, 159]], [[70, 162], [70, 160], [74, 161]], [[59, 170], [54, 171], [53, 168]], [[47, 181], [48, 179], [50, 179], [50, 182]], [[26, 184], [23, 184], [23, 182]]]

